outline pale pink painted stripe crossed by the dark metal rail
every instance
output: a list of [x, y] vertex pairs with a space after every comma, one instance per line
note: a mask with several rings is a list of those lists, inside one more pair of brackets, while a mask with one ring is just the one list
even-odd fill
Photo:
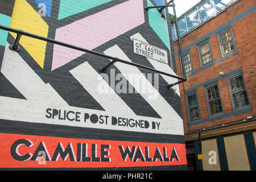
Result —
[[[57, 28], [55, 39], [91, 50], [142, 23], [143, 0], [130, 0]], [[83, 54], [84, 52], [55, 44], [52, 71]]]

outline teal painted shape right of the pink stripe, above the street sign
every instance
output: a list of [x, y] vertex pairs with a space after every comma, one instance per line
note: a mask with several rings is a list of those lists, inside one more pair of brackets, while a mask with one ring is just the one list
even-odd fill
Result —
[[[149, 0], [147, 0], [147, 6], [154, 6]], [[160, 17], [160, 13], [157, 9], [148, 10], [148, 20], [150, 27], [156, 32], [159, 38], [166, 44], [166, 47], [170, 50], [170, 39], [168, 34], [167, 22]]]

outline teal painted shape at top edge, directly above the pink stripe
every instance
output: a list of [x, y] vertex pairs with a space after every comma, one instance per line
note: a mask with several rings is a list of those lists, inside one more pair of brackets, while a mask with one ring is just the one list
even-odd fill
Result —
[[58, 19], [67, 18], [113, 0], [60, 0]]

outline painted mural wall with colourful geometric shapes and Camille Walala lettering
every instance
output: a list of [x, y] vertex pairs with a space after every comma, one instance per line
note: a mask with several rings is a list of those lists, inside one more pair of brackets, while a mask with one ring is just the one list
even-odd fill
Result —
[[[0, 22], [176, 75], [168, 14], [144, 9], [163, 4], [5, 1]], [[175, 78], [123, 63], [101, 73], [112, 60], [27, 36], [16, 52], [16, 34], [0, 35], [0, 168], [187, 169]]]

